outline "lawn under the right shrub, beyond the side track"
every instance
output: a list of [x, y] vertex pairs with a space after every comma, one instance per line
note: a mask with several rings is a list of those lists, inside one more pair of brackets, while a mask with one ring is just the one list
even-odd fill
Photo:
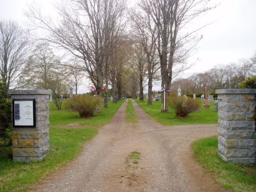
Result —
[[183, 125], [183, 124], [215, 124], [218, 123], [218, 112], [214, 111], [215, 104], [210, 102], [210, 109], [203, 109], [204, 102], [201, 101], [201, 108], [198, 112], [193, 112], [187, 118], [176, 117], [174, 111], [169, 108], [169, 113], [161, 113], [161, 101], [153, 101], [152, 105], [147, 105], [147, 100], [136, 102], [153, 119], [162, 125]]

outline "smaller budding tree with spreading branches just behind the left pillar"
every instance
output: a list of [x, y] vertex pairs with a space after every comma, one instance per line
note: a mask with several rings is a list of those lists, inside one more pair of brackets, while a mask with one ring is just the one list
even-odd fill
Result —
[[61, 109], [60, 95], [66, 95], [70, 82], [65, 66], [47, 43], [38, 44], [19, 75], [21, 88], [49, 89], [57, 109]]

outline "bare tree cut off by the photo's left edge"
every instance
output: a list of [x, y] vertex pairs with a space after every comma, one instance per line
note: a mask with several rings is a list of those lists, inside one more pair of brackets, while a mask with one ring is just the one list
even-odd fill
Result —
[[6, 85], [5, 97], [26, 62], [29, 42], [25, 34], [16, 22], [0, 20], [0, 78]]

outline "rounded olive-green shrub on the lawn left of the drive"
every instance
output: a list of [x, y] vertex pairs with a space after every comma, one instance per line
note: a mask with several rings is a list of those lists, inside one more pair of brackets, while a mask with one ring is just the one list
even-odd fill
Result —
[[70, 98], [70, 109], [77, 111], [80, 117], [91, 117], [99, 111], [102, 100], [98, 96], [77, 95]]

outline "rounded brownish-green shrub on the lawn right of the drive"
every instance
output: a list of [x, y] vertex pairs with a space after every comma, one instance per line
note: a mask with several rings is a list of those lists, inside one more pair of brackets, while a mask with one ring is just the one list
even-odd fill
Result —
[[177, 117], [186, 117], [189, 113], [198, 111], [200, 100], [172, 94], [167, 98], [167, 104], [175, 111]]

